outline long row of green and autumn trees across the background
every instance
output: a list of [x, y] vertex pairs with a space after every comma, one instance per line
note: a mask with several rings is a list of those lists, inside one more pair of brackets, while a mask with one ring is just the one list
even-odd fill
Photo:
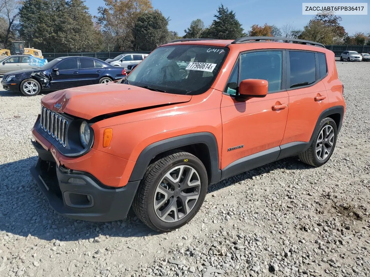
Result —
[[370, 45], [370, 34], [349, 35], [333, 14], [314, 16], [303, 29], [257, 25], [246, 31], [222, 4], [205, 26], [193, 20], [180, 37], [168, 29], [170, 18], [150, 0], [104, 0], [92, 16], [84, 0], [0, 0], [0, 47], [23, 40], [43, 52], [151, 51], [178, 38], [236, 39], [245, 36], [299, 38], [322, 44]]

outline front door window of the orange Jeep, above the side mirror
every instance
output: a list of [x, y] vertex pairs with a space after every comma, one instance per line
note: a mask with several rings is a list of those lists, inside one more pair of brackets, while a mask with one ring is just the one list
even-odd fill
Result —
[[238, 85], [245, 79], [262, 79], [268, 81], [268, 92], [280, 90], [282, 57], [282, 51], [258, 51], [242, 54]]

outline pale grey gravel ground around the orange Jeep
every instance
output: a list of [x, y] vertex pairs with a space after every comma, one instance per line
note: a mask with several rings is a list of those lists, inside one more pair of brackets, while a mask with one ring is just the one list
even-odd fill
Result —
[[31, 181], [42, 95], [0, 92], [0, 276], [370, 276], [370, 63], [337, 62], [347, 113], [331, 160], [287, 158], [209, 188], [158, 234], [129, 213], [58, 216]]

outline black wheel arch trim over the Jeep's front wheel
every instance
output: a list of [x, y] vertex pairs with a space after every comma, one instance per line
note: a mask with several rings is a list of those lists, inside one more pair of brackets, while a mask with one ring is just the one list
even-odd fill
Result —
[[129, 182], [141, 180], [144, 177], [149, 163], [155, 156], [169, 150], [194, 144], [205, 144], [208, 148], [210, 162], [209, 184], [220, 181], [221, 170], [219, 169], [219, 153], [216, 137], [209, 132], [199, 132], [167, 138], [145, 147], [137, 158], [134, 169], [131, 172]]

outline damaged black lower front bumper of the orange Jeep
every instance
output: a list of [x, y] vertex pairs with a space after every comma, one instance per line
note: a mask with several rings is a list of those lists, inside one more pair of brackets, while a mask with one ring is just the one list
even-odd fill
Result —
[[89, 221], [124, 219], [140, 181], [129, 182], [122, 188], [102, 185], [87, 172], [57, 167], [50, 151], [33, 142], [39, 158], [31, 175], [52, 208], [68, 218]]

